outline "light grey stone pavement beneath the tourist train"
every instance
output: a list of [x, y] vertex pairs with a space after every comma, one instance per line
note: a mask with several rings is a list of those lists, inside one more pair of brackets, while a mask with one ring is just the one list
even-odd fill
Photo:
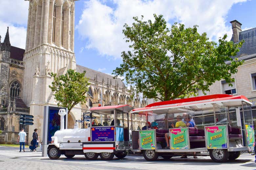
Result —
[[253, 170], [256, 169], [254, 156], [243, 154], [235, 161], [226, 163], [212, 162], [209, 156], [199, 156], [198, 159], [188, 157], [181, 159], [173, 157], [170, 160], [164, 160], [161, 157], [155, 162], [145, 161], [143, 156], [128, 155], [124, 159], [118, 160], [114, 157], [112, 161], [103, 161], [98, 157], [96, 161], [88, 161], [83, 155], [77, 155], [68, 159], [61, 156], [58, 160], [50, 160], [48, 157], [42, 157], [41, 152], [19, 153], [19, 148], [0, 146], [0, 170], [25, 170], [25, 169], [53, 169], [53, 170]]

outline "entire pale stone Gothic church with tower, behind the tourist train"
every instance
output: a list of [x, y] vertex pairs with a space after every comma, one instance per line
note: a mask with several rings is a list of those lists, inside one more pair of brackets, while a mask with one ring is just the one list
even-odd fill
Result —
[[[20, 130], [19, 114], [34, 116], [34, 125], [26, 127], [28, 138], [37, 128], [43, 136], [45, 106], [57, 106], [49, 88], [51, 72], [62, 75], [68, 69], [86, 71], [91, 85], [87, 102], [77, 104], [68, 115], [68, 128], [80, 120], [90, 107], [130, 104], [135, 108], [145, 106], [139, 96], [131, 98], [121, 79], [76, 65], [74, 53], [74, 20], [76, 0], [27, 0], [29, 14], [26, 48], [13, 47], [9, 29], [0, 53], [0, 142], [14, 142]], [[102, 101], [102, 102], [101, 102]], [[138, 118], [139, 120], [139, 118]], [[141, 127], [141, 125], [139, 126]]]

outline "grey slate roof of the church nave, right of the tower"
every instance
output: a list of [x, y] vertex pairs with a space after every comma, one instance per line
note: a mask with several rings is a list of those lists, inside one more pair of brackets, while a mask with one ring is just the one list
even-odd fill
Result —
[[109, 79], [109, 83], [110, 83], [110, 80], [111, 80], [112, 85], [115, 85], [116, 80], [118, 82], [119, 87], [122, 87], [122, 85], [123, 85], [123, 82], [120, 78], [114, 79], [112, 75], [109, 75], [109, 74], [106, 74], [106, 73], [103, 73], [103, 72], [99, 72], [99, 71], [96, 71], [96, 70], [92, 70], [92, 69], [89, 69], [87, 67], [83, 67], [83, 66], [80, 66], [80, 65], [76, 65], [76, 71], [77, 72], [82, 73], [84, 70], [86, 71], [85, 76], [87, 78], [94, 79], [94, 77], [97, 75], [97, 79], [98, 79], [99, 82], [102, 82], [102, 77], [103, 77], [105, 83], [107, 83], [107, 79]]

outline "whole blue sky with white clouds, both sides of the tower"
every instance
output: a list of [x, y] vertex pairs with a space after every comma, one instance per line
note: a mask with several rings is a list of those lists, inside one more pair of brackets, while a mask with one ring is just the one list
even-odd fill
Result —
[[[0, 35], [10, 26], [13, 46], [25, 48], [28, 1], [1, 1]], [[232, 20], [242, 23], [242, 30], [256, 27], [256, 0], [79, 0], [75, 2], [75, 56], [79, 65], [105, 73], [122, 62], [120, 53], [128, 50], [122, 35], [124, 23], [133, 16], [153, 19], [153, 13], [163, 14], [168, 25], [184, 23], [199, 25], [199, 32], [217, 41], [225, 33], [232, 36]], [[2, 38], [3, 42], [3, 38]]]

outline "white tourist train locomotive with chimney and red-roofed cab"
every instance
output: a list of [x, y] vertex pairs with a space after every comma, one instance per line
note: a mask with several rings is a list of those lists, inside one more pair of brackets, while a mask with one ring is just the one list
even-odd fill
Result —
[[[65, 109], [59, 110], [61, 127], [54, 133], [47, 154], [50, 159], [58, 159], [64, 154], [67, 158], [75, 155], [85, 155], [88, 160], [98, 156], [103, 160], [124, 158], [131, 151], [129, 141], [129, 112], [130, 105], [93, 107], [90, 109], [90, 127], [64, 129]], [[96, 117], [92, 117], [92, 116]]]

